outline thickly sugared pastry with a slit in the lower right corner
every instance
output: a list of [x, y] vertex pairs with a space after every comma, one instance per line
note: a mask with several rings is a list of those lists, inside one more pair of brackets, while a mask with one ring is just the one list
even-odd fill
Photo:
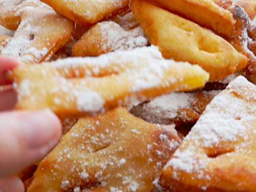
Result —
[[165, 165], [170, 191], [255, 191], [256, 86], [239, 76], [206, 107]]

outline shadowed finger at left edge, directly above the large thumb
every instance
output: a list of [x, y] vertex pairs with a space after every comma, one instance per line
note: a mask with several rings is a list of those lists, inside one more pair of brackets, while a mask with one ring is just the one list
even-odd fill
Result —
[[17, 95], [12, 86], [5, 86], [0, 90], [0, 111], [7, 111], [14, 108]]

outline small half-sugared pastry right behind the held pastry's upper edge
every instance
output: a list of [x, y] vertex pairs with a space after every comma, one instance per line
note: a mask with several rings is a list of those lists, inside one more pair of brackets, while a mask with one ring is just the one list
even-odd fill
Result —
[[124, 30], [114, 22], [100, 22], [89, 29], [72, 48], [73, 56], [99, 56], [116, 50], [147, 46], [141, 27]]

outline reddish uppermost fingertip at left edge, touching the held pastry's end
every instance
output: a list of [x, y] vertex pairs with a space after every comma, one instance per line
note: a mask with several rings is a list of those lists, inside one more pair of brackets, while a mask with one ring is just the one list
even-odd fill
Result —
[[6, 72], [12, 70], [19, 65], [15, 59], [0, 56], [0, 84], [10, 84], [11, 82], [6, 79]]

